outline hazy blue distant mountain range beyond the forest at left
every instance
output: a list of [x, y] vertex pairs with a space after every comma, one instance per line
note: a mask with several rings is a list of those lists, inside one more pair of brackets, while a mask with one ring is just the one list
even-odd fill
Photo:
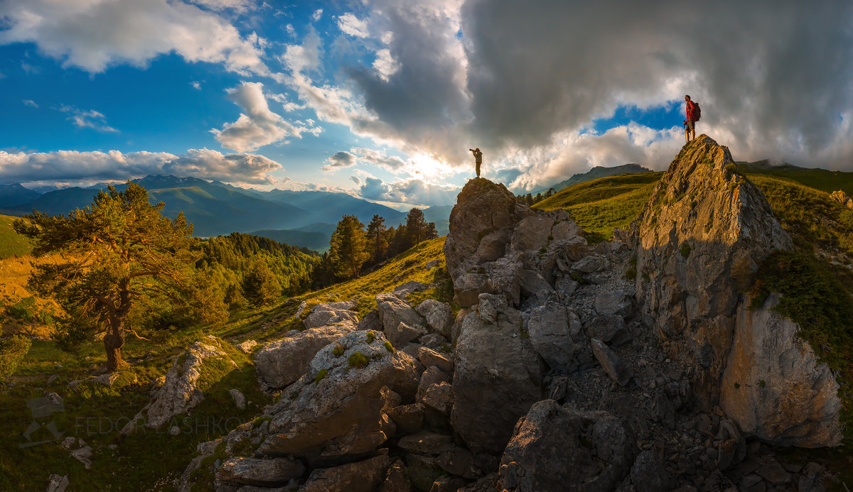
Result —
[[[197, 236], [218, 236], [249, 232], [282, 243], [310, 249], [328, 248], [328, 240], [343, 215], [357, 215], [365, 225], [373, 215], [385, 218], [386, 226], [405, 222], [406, 212], [368, 202], [346, 193], [260, 192], [218, 181], [177, 176], [148, 175], [133, 180], [148, 190], [152, 203], [163, 202], [163, 214], [174, 218], [183, 211], [193, 223]], [[69, 187], [39, 193], [20, 184], [0, 185], [0, 214], [23, 215], [36, 209], [50, 215], [64, 215], [90, 205], [106, 183], [87, 188]], [[116, 186], [122, 190], [125, 185]], [[440, 234], [447, 233], [450, 206], [424, 210], [428, 221], [436, 223]]]

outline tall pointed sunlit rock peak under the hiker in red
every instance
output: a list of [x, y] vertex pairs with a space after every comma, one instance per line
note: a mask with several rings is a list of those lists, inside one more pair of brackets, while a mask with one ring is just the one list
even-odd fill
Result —
[[671, 354], [697, 371], [705, 407], [734, 330], [738, 293], [774, 249], [791, 249], [762, 192], [736, 172], [728, 148], [700, 135], [682, 148], [630, 231], [636, 297]]

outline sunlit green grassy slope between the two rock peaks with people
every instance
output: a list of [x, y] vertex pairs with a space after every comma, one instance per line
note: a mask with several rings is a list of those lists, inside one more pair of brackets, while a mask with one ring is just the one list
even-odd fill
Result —
[[613, 227], [625, 229], [652, 194], [663, 173], [625, 174], [584, 181], [534, 205], [566, 209], [592, 241], [611, 239]]

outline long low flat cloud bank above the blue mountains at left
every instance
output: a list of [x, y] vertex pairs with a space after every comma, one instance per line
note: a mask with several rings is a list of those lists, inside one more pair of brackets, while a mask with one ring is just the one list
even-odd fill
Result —
[[255, 154], [222, 154], [190, 149], [168, 152], [2, 152], [0, 182], [127, 180], [148, 174], [176, 174], [249, 185], [272, 185], [281, 164]]

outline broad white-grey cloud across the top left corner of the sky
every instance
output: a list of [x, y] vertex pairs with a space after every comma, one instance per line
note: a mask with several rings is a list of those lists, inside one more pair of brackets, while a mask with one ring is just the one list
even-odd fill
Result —
[[[217, 9], [249, 5], [239, 0], [200, 0]], [[108, 66], [144, 66], [160, 54], [222, 63], [241, 74], [266, 75], [261, 50], [228, 20], [191, 3], [167, 0], [29, 0], [0, 3], [0, 43], [36, 43], [63, 66], [103, 72]]]

